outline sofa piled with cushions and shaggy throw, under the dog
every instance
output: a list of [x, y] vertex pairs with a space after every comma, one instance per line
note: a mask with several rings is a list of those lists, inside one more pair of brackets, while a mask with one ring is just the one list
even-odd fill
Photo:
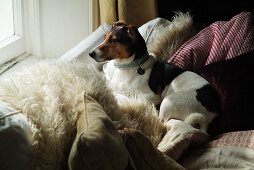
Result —
[[103, 63], [88, 57], [111, 27], [103, 24], [61, 58], [1, 81], [0, 169], [253, 169], [253, 14], [195, 25], [177, 12], [139, 31], [159, 60], [217, 90], [221, 113], [207, 133], [180, 120], [157, 127], [156, 109], [138, 99], [117, 104]]

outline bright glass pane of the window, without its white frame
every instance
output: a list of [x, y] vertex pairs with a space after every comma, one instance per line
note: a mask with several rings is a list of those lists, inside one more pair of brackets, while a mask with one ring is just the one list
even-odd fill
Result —
[[0, 42], [14, 35], [12, 0], [0, 0]]

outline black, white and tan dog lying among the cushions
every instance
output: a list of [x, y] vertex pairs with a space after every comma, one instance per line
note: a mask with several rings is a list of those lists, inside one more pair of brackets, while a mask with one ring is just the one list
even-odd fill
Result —
[[215, 89], [198, 74], [170, 65], [148, 54], [137, 27], [113, 23], [104, 41], [90, 53], [103, 65], [105, 78], [116, 97], [139, 97], [158, 107], [159, 119], [182, 120], [207, 133], [219, 113]]

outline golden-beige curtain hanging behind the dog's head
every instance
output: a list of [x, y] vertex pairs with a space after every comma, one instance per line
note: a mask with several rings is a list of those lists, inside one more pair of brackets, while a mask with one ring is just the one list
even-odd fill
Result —
[[139, 27], [157, 17], [156, 0], [95, 0], [93, 6], [94, 30], [119, 20]]

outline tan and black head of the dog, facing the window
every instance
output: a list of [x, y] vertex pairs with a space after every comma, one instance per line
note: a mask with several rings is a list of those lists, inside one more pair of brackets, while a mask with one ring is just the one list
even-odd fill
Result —
[[147, 53], [143, 37], [137, 27], [124, 22], [115, 22], [105, 35], [104, 41], [89, 55], [97, 62], [127, 59], [135, 54], [135, 59]]

